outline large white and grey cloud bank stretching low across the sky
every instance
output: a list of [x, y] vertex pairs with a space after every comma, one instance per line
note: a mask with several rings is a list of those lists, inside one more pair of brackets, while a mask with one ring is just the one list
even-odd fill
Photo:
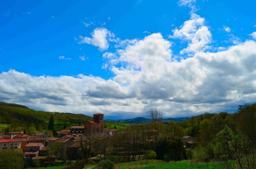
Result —
[[255, 41], [216, 53], [197, 52], [179, 62], [172, 60], [171, 44], [154, 33], [114, 54], [105, 53], [115, 74], [108, 80], [2, 72], [0, 100], [62, 112], [89, 114], [100, 109], [119, 117], [145, 115], [151, 107], [161, 108], [165, 117], [231, 111], [255, 101]]

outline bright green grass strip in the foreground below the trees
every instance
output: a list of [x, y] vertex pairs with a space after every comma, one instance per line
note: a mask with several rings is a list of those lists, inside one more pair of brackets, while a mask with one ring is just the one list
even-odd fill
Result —
[[191, 164], [189, 160], [182, 160], [176, 162], [164, 162], [162, 160], [140, 160], [131, 161], [127, 163], [115, 164], [115, 168], [129, 168], [129, 169], [218, 169], [220, 168], [216, 163], [200, 163]]

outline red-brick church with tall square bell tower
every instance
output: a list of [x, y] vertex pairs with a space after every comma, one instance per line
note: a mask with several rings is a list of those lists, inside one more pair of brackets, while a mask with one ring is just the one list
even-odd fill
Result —
[[92, 134], [92, 133], [103, 134], [103, 122], [104, 122], [104, 114], [101, 114], [101, 113], [93, 114], [93, 121], [87, 121], [84, 125], [85, 133], [86, 134]]

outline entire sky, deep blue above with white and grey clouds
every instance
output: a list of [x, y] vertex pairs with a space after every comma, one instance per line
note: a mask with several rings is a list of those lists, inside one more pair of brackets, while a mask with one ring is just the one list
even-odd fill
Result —
[[[0, 7], [0, 99], [47, 111], [101, 111], [109, 118], [148, 116], [151, 107], [165, 117], [234, 112], [238, 104], [255, 101], [256, 56], [250, 50], [255, 6], [255, 1], [212, 0], [5, 1]], [[152, 48], [164, 52], [147, 53]], [[205, 63], [205, 55], [220, 57], [218, 64]], [[236, 59], [249, 63], [239, 65]], [[219, 69], [227, 78], [222, 85], [220, 78], [209, 84], [208, 77], [220, 77]], [[230, 71], [247, 77], [230, 77]], [[230, 84], [237, 77], [246, 84]]]

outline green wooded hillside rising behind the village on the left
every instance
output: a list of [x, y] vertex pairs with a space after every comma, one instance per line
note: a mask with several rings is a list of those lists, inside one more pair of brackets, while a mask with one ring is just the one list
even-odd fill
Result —
[[56, 131], [92, 120], [92, 117], [84, 114], [36, 111], [27, 106], [0, 102], [0, 132], [28, 130], [31, 126], [36, 128], [36, 132], [46, 131], [51, 115]]

